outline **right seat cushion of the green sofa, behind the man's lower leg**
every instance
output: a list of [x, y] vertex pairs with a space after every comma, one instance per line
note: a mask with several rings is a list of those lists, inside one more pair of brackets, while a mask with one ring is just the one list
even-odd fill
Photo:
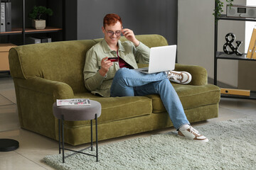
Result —
[[[220, 101], [220, 89], [211, 84], [204, 86], [192, 86], [173, 84], [184, 109], [206, 106]], [[159, 95], [147, 96], [152, 99], [153, 113], [166, 112]]]

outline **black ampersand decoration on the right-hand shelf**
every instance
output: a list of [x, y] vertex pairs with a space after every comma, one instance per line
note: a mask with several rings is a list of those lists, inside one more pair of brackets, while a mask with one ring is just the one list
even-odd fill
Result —
[[[229, 39], [229, 37], [231, 37], [231, 40]], [[242, 41], [235, 41], [235, 43], [237, 43], [237, 46], [234, 47], [233, 45], [233, 41], [235, 40], [235, 35], [233, 33], [228, 33], [227, 35], [225, 35], [225, 44], [223, 45], [223, 51], [228, 54], [228, 55], [232, 55], [235, 53], [235, 55], [242, 55], [241, 52], [238, 51], [238, 48], [240, 47], [240, 45], [242, 44]], [[230, 47], [230, 49], [232, 51], [228, 50], [228, 47]]]

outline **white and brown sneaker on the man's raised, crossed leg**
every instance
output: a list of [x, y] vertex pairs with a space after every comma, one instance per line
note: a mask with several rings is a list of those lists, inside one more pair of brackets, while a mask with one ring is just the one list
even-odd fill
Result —
[[167, 72], [167, 77], [169, 80], [174, 81], [178, 84], [188, 84], [190, 83], [192, 76], [188, 72], [176, 72], [169, 71]]

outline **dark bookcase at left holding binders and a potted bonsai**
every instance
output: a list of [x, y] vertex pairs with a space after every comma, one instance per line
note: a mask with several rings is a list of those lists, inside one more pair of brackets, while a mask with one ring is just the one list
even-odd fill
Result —
[[[0, 0], [1, 2], [1, 0]], [[65, 40], [65, 0], [58, 1], [32, 1], [32, 0], [16, 0], [11, 1], [11, 6], [15, 6], [12, 10], [14, 15], [12, 28], [9, 32], [0, 32], [0, 43], [14, 43], [15, 45], [25, 45], [26, 35], [33, 36], [34, 34], [41, 33], [43, 36], [52, 38], [53, 41]], [[28, 10], [32, 6], [46, 6], [53, 9], [53, 16], [49, 17], [45, 29], [37, 30], [29, 26]], [[3, 38], [3, 39], [2, 39]], [[1, 62], [1, 59], [0, 59]], [[9, 72], [9, 70], [0, 70], [2, 72]]]

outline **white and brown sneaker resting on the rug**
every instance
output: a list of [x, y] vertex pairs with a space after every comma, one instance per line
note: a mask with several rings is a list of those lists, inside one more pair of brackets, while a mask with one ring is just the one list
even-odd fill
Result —
[[185, 137], [188, 140], [194, 140], [196, 142], [208, 142], [207, 137], [200, 135], [198, 130], [194, 129], [191, 125], [186, 130], [178, 130], [178, 137]]

